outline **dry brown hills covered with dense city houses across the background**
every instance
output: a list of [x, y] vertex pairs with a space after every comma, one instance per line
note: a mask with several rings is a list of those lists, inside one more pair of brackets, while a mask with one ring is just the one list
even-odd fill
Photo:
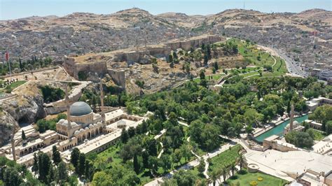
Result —
[[[290, 53], [298, 42], [298, 45], [303, 45], [301, 53], [312, 54], [303, 59], [307, 62], [324, 62], [331, 55], [331, 17], [331, 11], [321, 9], [301, 13], [261, 13], [231, 9], [215, 15], [152, 15], [139, 8], [109, 15], [72, 13], [64, 17], [27, 17], [0, 21], [0, 50], [6, 46], [14, 60], [19, 56], [27, 59], [31, 55], [61, 59], [71, 53], [83, 55], [89, 52], [109, 52], [165, 43], [174, 38], [223, 34], [249, 38], [256, 43], [273, 45]], [[317, 37], [321, 43], [317, 43], [317, 52], [304, 47], [312, 45], [312, 31], [319, 31]], [[321, 56], [315, 58], [316, 54]], [[290, 56], [293, 55], [296, 54]]]

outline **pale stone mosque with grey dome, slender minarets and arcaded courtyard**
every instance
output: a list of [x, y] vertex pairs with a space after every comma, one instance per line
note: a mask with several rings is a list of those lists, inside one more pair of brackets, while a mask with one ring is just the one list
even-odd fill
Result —
[[[102, 83], [100, 83], [102, 90]], [[64, 102], [67, 107], [67, 120], [56, 124], [56, 131], [47, 130], [42, 134], [29, 125], [12, 134], [11, 144], [0, 149], [0, 156], [6, 156], [20, 164], [31, 166], [34, 152], [41, 151], [52, 155], [53, 145], [57, 146], [64, 160], [69, 161], [72, 148], [78, 148], [83, 153], [101, 152], [113, 145], [120, 138], [123, 128], [137, 127], [145, 117], [128, 115], [122, 109], [104, 113], [104, 92], [101, 91], [101, 113], [93, 113], [83, 101], [69, 103], [68, 91]], [[22, 130], [29, 142], [22, 140]]]

